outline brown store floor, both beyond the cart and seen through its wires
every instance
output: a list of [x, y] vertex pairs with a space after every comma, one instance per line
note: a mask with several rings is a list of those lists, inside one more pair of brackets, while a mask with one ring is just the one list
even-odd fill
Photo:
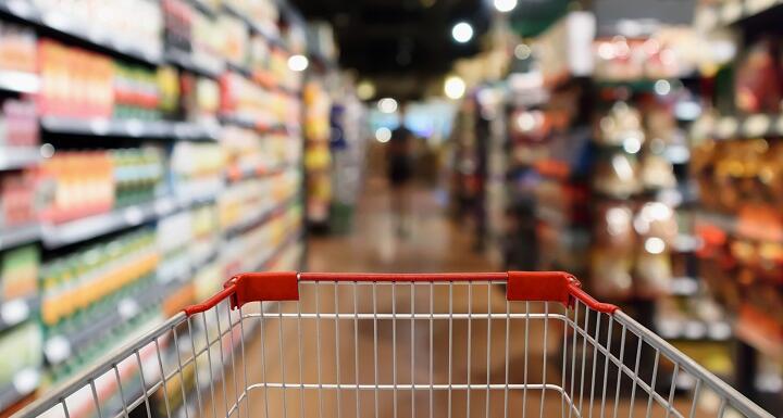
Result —
[[[493, 269], [484, 256], [471, 250], [469, 231], [446, 218], [437, 191], [418, 188], [413, 193], [409, 233], [400, 237], [393, 220], [388, 190], [382, 182], [370, 183], [351, 233], [311, 238], [309, 269], [436, 273]], [[254, 335], [263, 338], [248, 341], [247, 362], [236, 366], [236, 370], [247, 370], [251, 385], [248, 402], [243, 402], [237, 410], [238, 417], [572, 416], [555, 390], [506, 388], [507, 382], [538, 384], [545, 376], [547, 383], [560, 384], [563, 330], [555, 320], [486, 319], [485, 314], [502, 313], [509, 306], [501, 286], [449, 289], [422, 283], [393, 289], [381, 284], [321, 283], [302, 284], [300, 292], [299, 305], [271, 304], [263, 314], [264, 320], [257, 321]], [[330, 315], [335, 312], [340, 315]], [[431, 320], [426, 315], [410, 319], [411, 313], [430, 312], [484, 316], [470, 321]], [[538, 304], [530, 308], [520, 305], [511, 312], [539, 314], [545, 308]], [[364, 315], [355, 319], [356, 313]], [[389, 314], [398, 318], [393, 320]], [[576, 365], [579, 369], [579, 362]], [[219, 415], [223, 405], [235, 404], [231, 401], [236, 400], [233, 379], [232, 375], [227, 378], [228, 402], [220, 400], [217, 390]], [[238, 376], [236, 380], [240, 392], [244, 379], [245, 376]], [[296, 387], [282, 389], [282, 382]], [[298, 385], [302, 382], [309, 384], [304, 390]], [[467, 391], [464, 385], [469, 382], [475, 387]], [[494, 385], [490, 391], [487, 382]], [[597, 382], [600, 387], [601, 380]], [[430, 391], [431, 383], [442, 387]], [[382, 389], [373, 390], [376, 384]], [[447, 391], [448, 384], [457, 389]], [[587, 373], [583, 416], [589, 409], [591, 397], [595, 400], [596, 416], [668, 416], [657, 405], [646, 415], [648, 397], [642, 392], [632, 409], [627, 396], [622, 396], [614, 415], [614, 388], [611, 382], [602, 410], [600, 390], [592, 390]], [[686, 406], [681, 410], [687, 416]]]

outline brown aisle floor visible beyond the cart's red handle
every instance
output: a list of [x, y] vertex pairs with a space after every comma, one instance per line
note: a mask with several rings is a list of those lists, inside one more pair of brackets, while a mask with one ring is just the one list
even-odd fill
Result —
[[310, 239], [311, 271], [490, 271], [486, 257], [471, 251], [467, 227], [446, 218], [442, 191], [413, 187], [402, 235], [391, 193], [374, 179], [359, 204], [352, 232]]

